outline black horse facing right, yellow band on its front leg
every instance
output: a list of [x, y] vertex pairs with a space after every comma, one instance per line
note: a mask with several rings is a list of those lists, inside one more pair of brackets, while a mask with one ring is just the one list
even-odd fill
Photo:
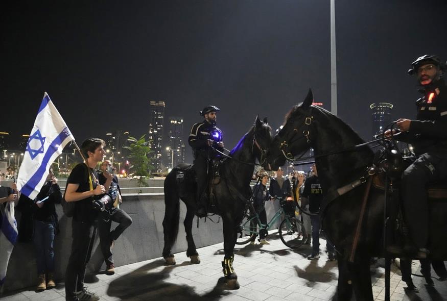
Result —
[[[268, 145], [273, 140], [272, 129], [267, 118], [261, 121], [258, 117], [251, 130], [244, 135], [231, 150], [230, 157], [225, 159], [219, 168], [220, 181], [214, 184], [215, 212], [222, 216], [225, 257], [223, 271], [228, 288], [238, 289], [238, 277], [232, 268], [234, 244], [236, 244], [237, 228], [240, 225], [245, 201], [250, 196], [250, 181], [254, 170], [255, 159], [264, 161]], [[188, 248], [186, 256], [192, 263], [200, 263], [192, 236], [193, 218], [196, 213], [196, 179], [191, 164], [176, 166], [164, 180], [164, 205], [166, 211], [163, 219], [164, 248], [163, 258], [167, 264], [175, 264], [171, 248], [175, 243], [179, 225], [179, 198], [186, 205], [184, 227]]]

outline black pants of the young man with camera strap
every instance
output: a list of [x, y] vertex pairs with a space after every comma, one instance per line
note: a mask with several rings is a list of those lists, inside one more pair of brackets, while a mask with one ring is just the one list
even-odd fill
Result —
[[90, 260], [97, 222], [72, 221], [72, 252], [65, 272], [65, 299], [73, 300], [84, 287], [85, 268]]

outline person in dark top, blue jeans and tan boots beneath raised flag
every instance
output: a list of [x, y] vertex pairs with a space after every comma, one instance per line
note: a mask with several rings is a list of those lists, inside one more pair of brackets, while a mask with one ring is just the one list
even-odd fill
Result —
[[55, 204], [60, 204], [62, 193], [50, 167], [47, 182], [40, 189], [31, 209], [34, 219], [34, 245], [38, 284], [36, 291], [54, 288], [54, 237], [58, 229], [58, 216]]

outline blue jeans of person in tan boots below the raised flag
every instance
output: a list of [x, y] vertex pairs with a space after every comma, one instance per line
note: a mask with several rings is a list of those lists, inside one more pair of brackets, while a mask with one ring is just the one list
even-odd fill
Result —
[[37, 274], [54, 272], [54, 225], [34, 220], [34, 245], [36, 247]]

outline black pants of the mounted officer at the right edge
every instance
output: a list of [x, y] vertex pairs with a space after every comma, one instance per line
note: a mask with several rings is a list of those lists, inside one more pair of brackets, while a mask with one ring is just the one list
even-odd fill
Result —
[[422, 154], [404, 171], [402, 177], [404, 214], [412, 241], [418, 248], [425, 248], [428, 245], [428, 185], [445, 179], [446, 175], [447, 157], [431, 153]]

